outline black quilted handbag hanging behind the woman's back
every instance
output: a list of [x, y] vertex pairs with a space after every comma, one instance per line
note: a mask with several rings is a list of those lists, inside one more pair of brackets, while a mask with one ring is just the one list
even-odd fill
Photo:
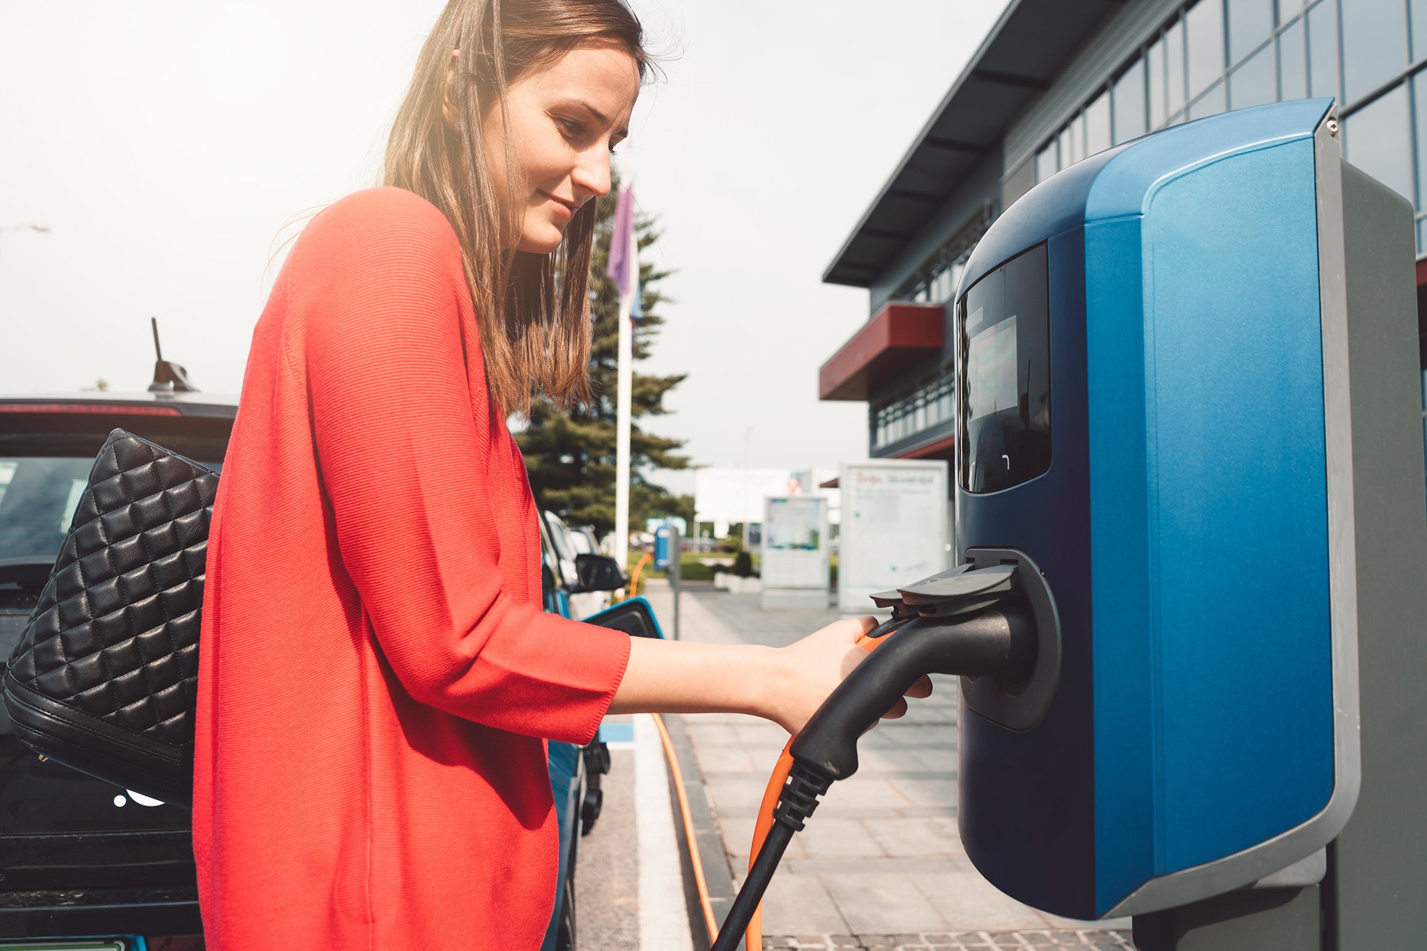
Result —
[[4, 674], [14, 736], [191, 807], [198, 624], [218, 473], [116, 429]]

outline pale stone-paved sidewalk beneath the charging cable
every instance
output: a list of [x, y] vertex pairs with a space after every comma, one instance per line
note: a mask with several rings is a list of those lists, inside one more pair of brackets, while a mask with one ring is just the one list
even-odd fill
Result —
[[[646, 590], [666, 634], [666, 582]], [[838, 612], [763, 612], [756, 595], [686, 585], [684, 640], [788, 644]], [[833, 784], [788, 848], [763, 901], [772, 948], [1132, 948], [1129, 921], [1079, 922], [1042, 914], [993, 888], [956, 830], [956, 679], [935, 676], [933, 694], [859, 743], [860, 767]], [[745, 716], [685, 716], [698, 767], [736, 880], [768, 773], [788, 734]]]

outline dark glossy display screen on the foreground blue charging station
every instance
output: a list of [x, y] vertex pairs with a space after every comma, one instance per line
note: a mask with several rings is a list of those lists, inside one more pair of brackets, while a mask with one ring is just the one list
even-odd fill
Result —
[[962, 489], [997, 492], [1050, 468], [1046, 247], [1020, 254], [959, 304]]

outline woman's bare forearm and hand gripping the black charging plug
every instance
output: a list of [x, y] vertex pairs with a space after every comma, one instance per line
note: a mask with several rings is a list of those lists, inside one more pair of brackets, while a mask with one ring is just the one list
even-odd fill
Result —
[[[798, 733], [866, 657], [856, 643], [876, 623], [833, 622], [788, 647], [634, 637], [609, 713], [751, 713]], [[930, 693], [932, 682], [922, 677], [906, 696]], [[903, 700], [886, 716], [905, 711]]]

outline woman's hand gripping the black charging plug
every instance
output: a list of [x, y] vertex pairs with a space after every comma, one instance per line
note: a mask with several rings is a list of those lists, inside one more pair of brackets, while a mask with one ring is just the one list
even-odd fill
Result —
[[[771, 709], [762, 716], [773, 720], [793, 736], [802, 730], [852, 669], [862, 663], [868, 652], [858, 640], [878, 626], [876, 617], [836, 620], [822, 630], [778, 650], [779, 663], [786, 670], [783, 683], [771, 696]], [[908, 697], [926, 697], [932, 680], [919, 677], [906, 692]], [[883, 720], [906, 713], [906, 700], [882, 714]]]

